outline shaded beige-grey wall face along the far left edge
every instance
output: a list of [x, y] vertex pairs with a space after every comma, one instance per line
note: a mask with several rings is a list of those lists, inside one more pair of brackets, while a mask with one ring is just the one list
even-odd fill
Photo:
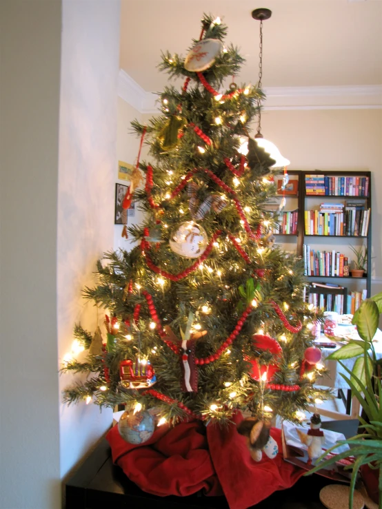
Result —
[[61, 1], [0, 3], [0, 508], [60, 506]]

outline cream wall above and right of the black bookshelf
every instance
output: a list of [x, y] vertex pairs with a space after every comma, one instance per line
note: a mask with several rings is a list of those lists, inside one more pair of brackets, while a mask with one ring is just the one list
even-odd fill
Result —
[[382, 110], [265, 111], [261, 127], [263, 135], [288, 156], [290, 169], [372, 172], [372, 293], [380, 291]]

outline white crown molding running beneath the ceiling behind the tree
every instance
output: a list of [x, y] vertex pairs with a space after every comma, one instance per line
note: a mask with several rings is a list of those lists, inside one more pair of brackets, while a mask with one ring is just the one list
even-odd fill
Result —
[[[382, 85], [268, 87], [264, 110], [381, 110]], [[158, 95], [119, 70], [118, 95], [142, 114], [157, 113]]]

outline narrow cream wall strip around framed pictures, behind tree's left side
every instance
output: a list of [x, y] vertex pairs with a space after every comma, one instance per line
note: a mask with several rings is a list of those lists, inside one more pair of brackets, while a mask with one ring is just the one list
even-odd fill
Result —
[[[118, 98], [118, 128], [117, 128], [117, 157], [125, 163], [134, 165], [137, 162], [140, 139], [132, 134], [130, 122], [137, 118], [141, 121], [141, 113], [134, 107]], [[147, 148], [143, 145], [141, 151], [141, 160], [145, 158]], [[114, 172], [115, 182], [123, 185], [129, 185], [125, 180], [118, 180], [117, 168]], [[140, 224], [144, 214], [135, 206], [134, 217], [128, 217], [128, 226]], [[114, 225], [114, 249], [130, 249], [134, 246], [134, 242], [130, 238], [126, 239], [121, 236], [123, 226]]]

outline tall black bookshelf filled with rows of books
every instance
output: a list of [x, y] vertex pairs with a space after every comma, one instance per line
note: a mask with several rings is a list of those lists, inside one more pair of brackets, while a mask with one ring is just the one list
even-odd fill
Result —
[[[316, 298], [326, 303], [326, 294], [333, 289], [339, 295], [329, 297], [329, 302], [341, 301], [341, 312], [350, 313], [371, 291], [371, 174], [320, 170], [290, 170], [288, 174], [290, 180], [298, 180], [292, 186], [294, 194], [285, 194], [285, 211], [294, 211], [296, 233], [283, 229], [277, 242], [288, 243], [289, 250], [294, 242], [304, 260], [305, 276], [316, 285], [308, 292], [311, 302]], [[367, 273], [361, 278], [344, 271], [355, 258], [350, 246], [368, 249]], [[311, 295], [315, 291], [324, 297]]]

